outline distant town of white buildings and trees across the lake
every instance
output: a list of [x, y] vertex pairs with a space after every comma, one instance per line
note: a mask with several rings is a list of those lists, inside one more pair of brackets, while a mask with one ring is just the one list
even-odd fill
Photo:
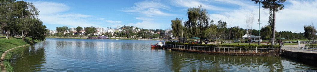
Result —
[[[87, 28], [94, 29], [93, 32], [87, 33]], [[141, 29], [133, 26], [122, 26], [117, 28], [100, 28], [100, 27], [56, 27], [56, 30], [49, 29], [48, 36], [63, 36], [63, 37], [93, 37], [93, 36], [108, 36], [115, 38], [163, 38], [165, 31], [163, 29]], [[80, 29], [80, 30], [77, 30]]]

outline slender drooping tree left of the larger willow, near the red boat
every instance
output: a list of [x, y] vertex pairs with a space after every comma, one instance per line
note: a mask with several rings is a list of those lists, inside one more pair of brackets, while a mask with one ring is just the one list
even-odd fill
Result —
[[178, 18], [173, 19], [173, 20], [171, 20], [171, 23], [172, 23], [171, 24], [171, 26], [172, 26], [171, 32], [173, 33], [173, 36], [178, 39], [177, 42], [179, 43], [180, 41], [182, 41], [182, 40], [180, 40], [180, 38], [182, 36], [183, 28], [184, 28], [184, 26], [182, 25], [182, 19], [178, 19]]

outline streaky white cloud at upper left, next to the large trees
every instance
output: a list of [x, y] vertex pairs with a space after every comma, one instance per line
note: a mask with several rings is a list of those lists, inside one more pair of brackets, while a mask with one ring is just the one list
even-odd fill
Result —
[[36, 1], [32, 2], [40, 11], [40, 19], [44, 24], [81, 27], [101, 27], [98, 24], [87, 21], [90, 15], [65, 13], [70, 7], [64, 3]]

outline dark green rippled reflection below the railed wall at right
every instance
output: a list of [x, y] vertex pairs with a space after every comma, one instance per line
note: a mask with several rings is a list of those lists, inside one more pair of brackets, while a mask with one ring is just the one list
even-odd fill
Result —
[[167, 52], [171, 60], [173, 72], [214, 72], [214, 71], [273, 71], [294, 72], [314, 69], [279, 56], [219, 56], [184, 53], [178, 51]]

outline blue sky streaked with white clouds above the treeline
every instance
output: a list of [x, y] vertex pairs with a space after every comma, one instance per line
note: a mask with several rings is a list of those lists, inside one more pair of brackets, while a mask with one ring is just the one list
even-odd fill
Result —
[[[258, 29], [258, 4], [249, 0], [29, 0], [40, 11], [49, 29], [55, 27], [136, 26], [145, 29], [171, 28], [171, 20], [187, 20], [189, 7], [203, 7], [210, 19], [222, 19], [227, 27], [246, 28], [245, 17], [254, 14], [252, 29]], [[276, 14], [276, 30], [304, 32], [304, 25], [317, 24], [316, 0], [287, 0]], [[267, 25], [268, 10], [260, 9], [260, 27]]]

